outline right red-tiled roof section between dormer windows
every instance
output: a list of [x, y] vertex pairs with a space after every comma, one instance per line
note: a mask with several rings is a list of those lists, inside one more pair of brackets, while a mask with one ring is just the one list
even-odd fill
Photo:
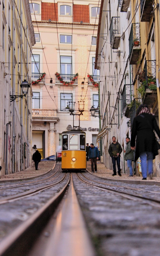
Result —
[[89, 23], [89, 5], [73, 5], [73, 22]]

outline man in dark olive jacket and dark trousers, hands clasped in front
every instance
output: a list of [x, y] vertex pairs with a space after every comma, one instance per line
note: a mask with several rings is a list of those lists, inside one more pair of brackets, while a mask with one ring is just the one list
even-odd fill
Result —
[[112, 141], [113, 142], [109, 145], [109, 149], [108, 149], [109, 155], [112, 158], [112, 163], [113, 163], [112, 176], [116, 175], [116, 162], [117, 162], [117, 168], [118, 168], [118, 175], [122, 176], [121, 167], [120, 167], [120, 156], [121, 156], [120, 154], [122, 152], [122, 147], [118, 142], [116, 142], [115, 136], [112, 137]]

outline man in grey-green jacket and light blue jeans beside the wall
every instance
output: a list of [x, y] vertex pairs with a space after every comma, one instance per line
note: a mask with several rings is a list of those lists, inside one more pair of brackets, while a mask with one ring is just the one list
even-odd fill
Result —
[[133, 177], [133, 168], [132, 161], [134, 160], [134, 150], [131, 149], [131, 140], [129, 137], [126, 138], [126, 150], [125, 152], [125, 160], [127, 161], [127, 167], [129, 168], [130, 175], [128, 177]]

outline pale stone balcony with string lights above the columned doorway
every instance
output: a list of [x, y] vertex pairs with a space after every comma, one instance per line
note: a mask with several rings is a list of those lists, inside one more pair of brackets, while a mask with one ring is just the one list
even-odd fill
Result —
[[58, 119], [57, 110], [53, 108], [43, 109], [43, 108], [32, 108], [32, 119], [33, 120], [43, 120], [51, 121]]

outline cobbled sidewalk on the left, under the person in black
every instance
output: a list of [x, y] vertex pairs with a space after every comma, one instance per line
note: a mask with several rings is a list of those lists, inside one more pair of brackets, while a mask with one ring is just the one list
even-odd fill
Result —
[[32, 166], [28, 167], [27, 169], [16, 172], [8, 175], [0, 176], [0, 183], [6, 182], [6, 181], [15, 181], [15, 180], [21, 180], [21, 179], [31, 179], [36, 176], [41, 176], [44, 173], [47, 173], [51, 169], [53, 169], [55, 166], [54, 161], [42, 161], [38, 164], [38, 170], [35, 170], [34, 162], [32, 162]]

